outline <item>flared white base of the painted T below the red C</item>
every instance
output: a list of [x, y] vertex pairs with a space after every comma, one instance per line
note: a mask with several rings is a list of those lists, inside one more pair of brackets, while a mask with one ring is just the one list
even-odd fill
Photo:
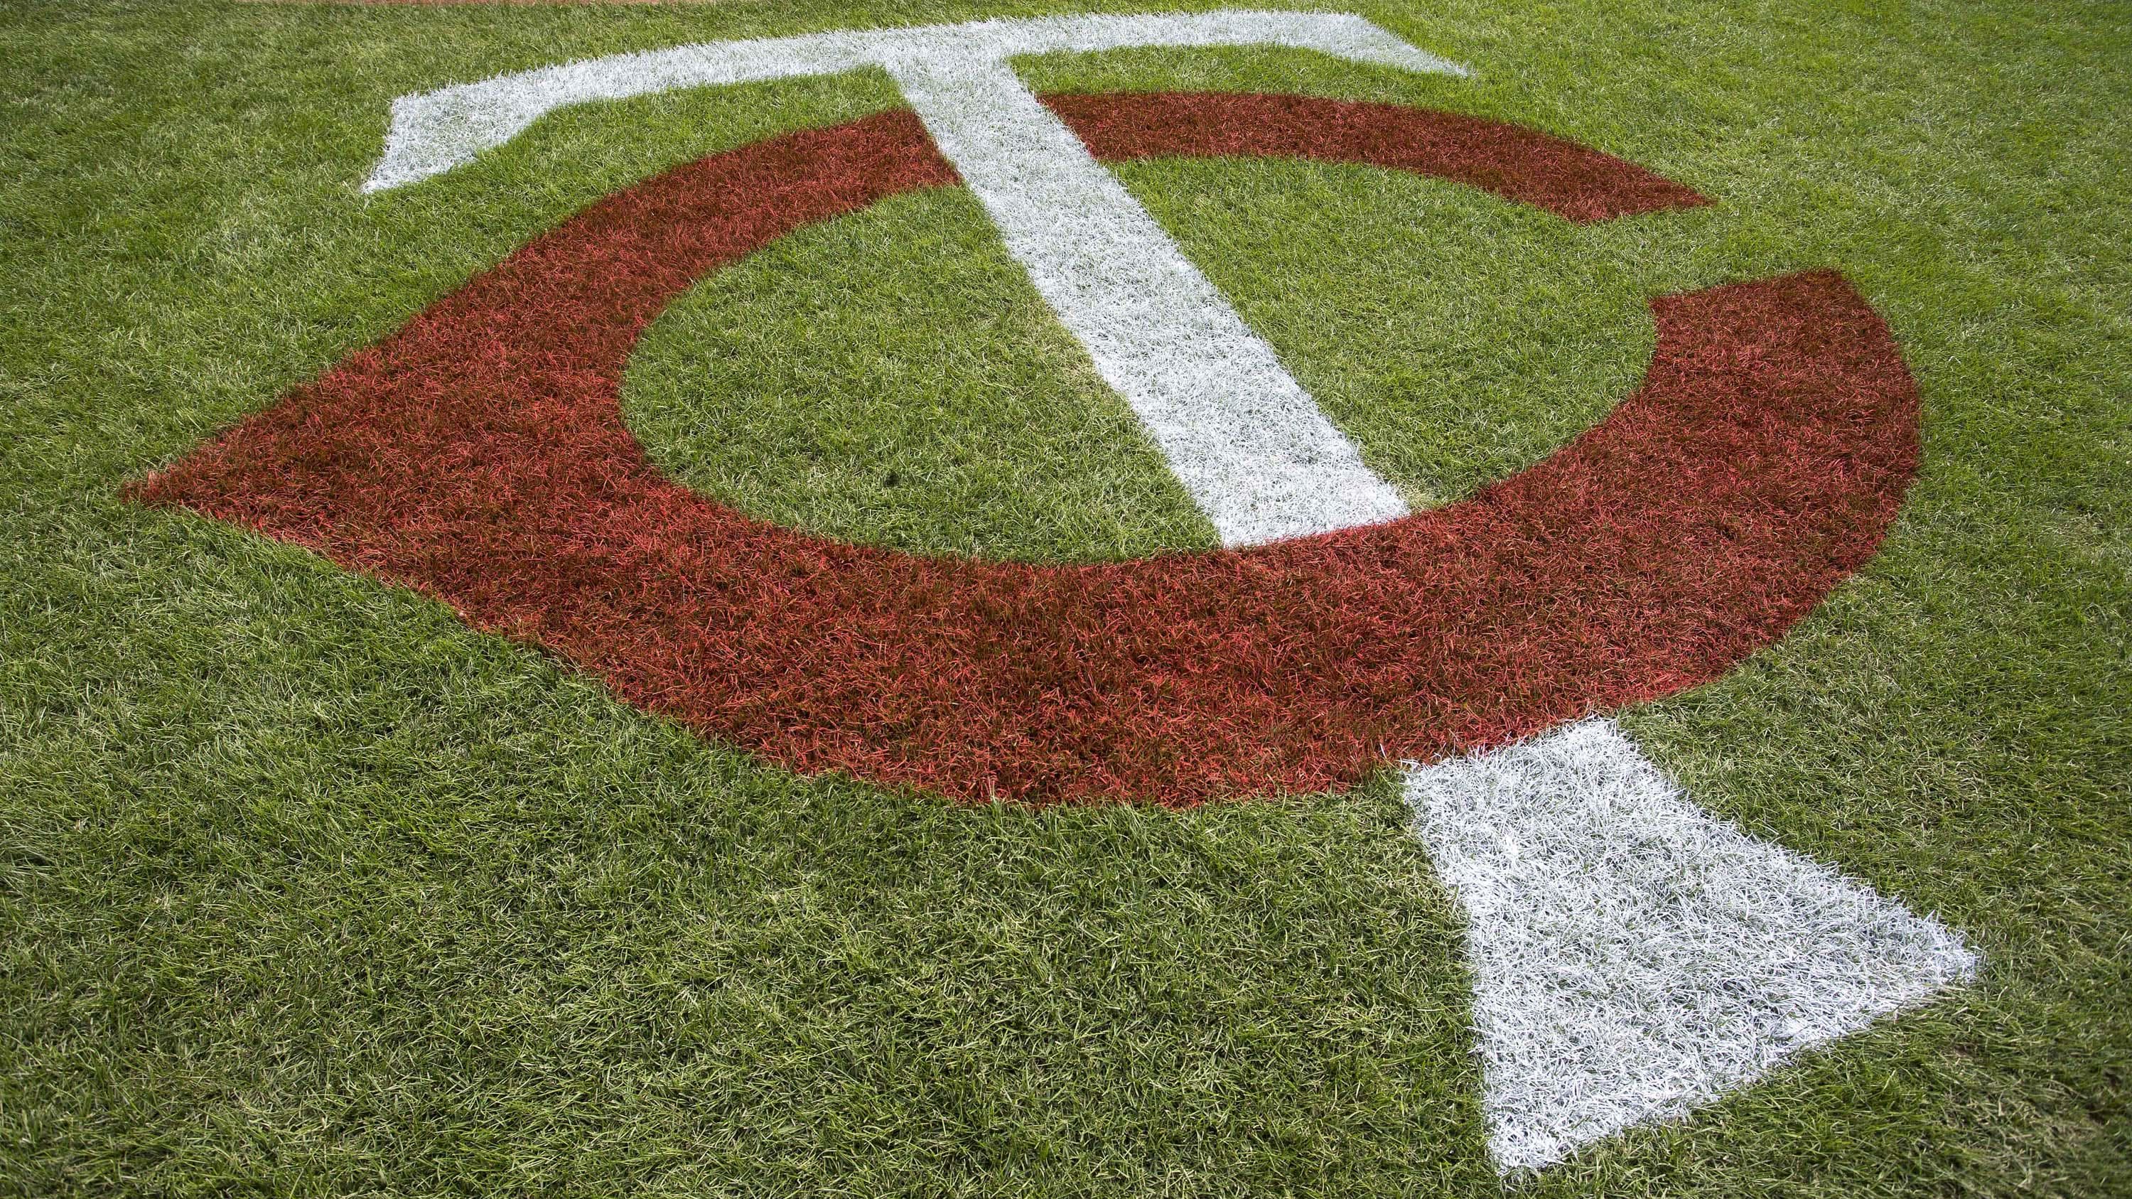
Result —
[[1932, 920], [1691, 804], [1603, 719], [1411, 766], [1467, 915], [1488, 1146], [1533, 1169], [1968, 979]]

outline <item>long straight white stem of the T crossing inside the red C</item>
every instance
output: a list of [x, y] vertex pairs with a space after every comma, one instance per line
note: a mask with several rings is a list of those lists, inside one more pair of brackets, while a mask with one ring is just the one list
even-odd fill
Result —
[[889, 73], [1222, 544], [1407, 514], [1273, 346], [1004, 62], [925, 58]]

